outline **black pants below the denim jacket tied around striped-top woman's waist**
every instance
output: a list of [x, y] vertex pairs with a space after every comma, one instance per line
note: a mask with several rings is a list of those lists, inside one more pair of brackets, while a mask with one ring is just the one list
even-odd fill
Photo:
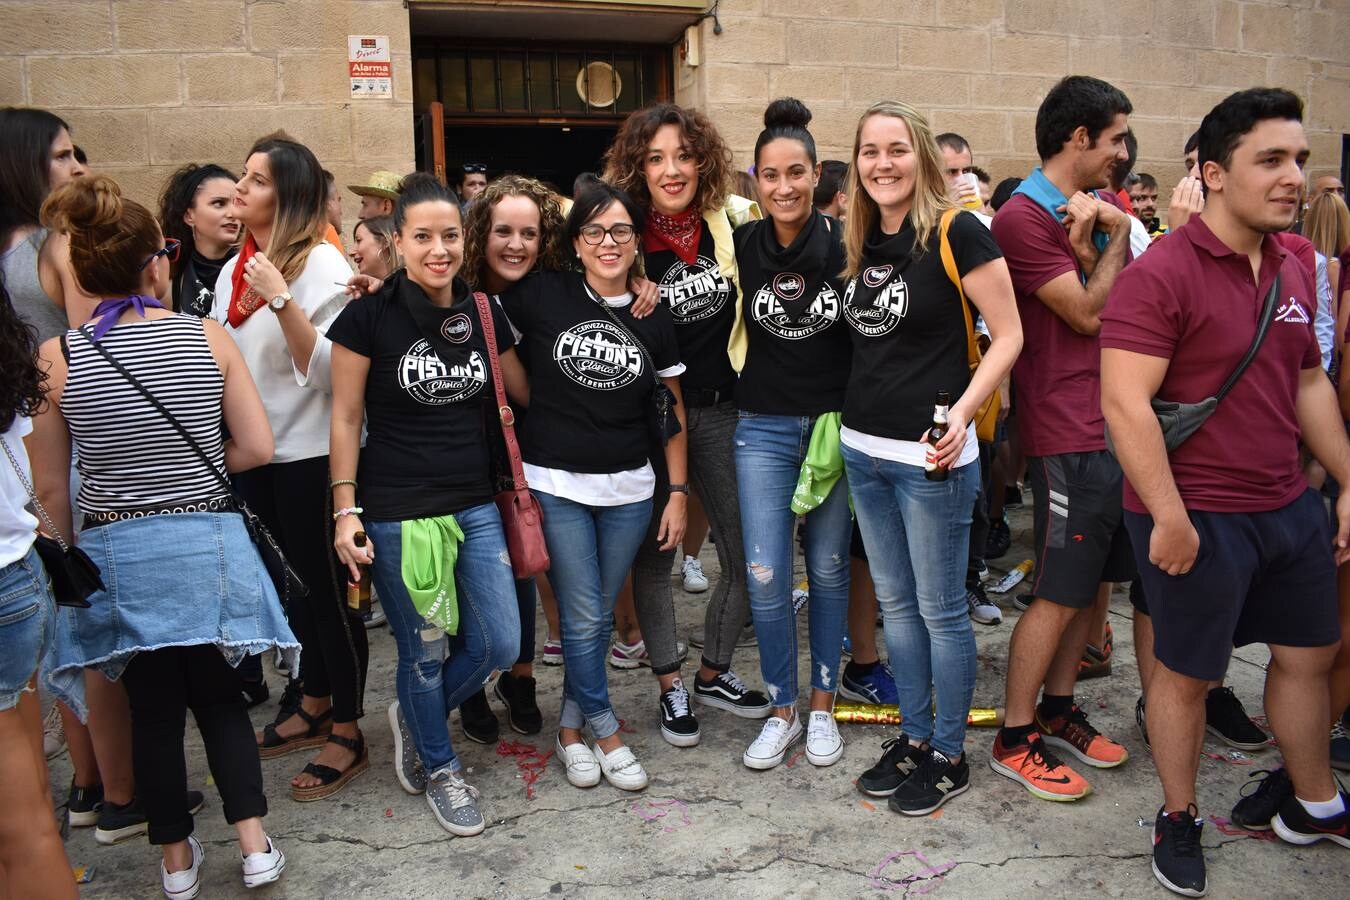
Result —
[[150, 843], [192, 834], [182, 734], [188, 710], [207, 745], [207, 764], [225, 822], [267, 815], [262, 765], [239, 691], [239, 673], [211, 644], [166, 646], [131, 657], [122, 676], [131, 700], [131, 768], [150, 823]]

